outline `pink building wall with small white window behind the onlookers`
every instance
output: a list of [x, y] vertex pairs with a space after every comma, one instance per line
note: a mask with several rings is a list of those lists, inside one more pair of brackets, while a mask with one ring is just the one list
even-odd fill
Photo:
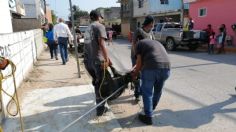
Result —
[[[236, 0], [198, 0], [191, 3], [189, 14], [194, 20], [194, 29], [204, 29], [211, 24], [216, 34], [221, 24], [225, 24], [227, 34], [233, 36], [233, 44], [236, 46], [236, 32], [231, 28], [236, 23]], [[198, 16], [199, 8], [207, 8], [205, 17]]]

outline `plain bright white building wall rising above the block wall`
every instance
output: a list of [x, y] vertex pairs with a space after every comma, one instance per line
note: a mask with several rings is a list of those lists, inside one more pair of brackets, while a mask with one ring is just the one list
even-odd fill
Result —
[[0, 34], [13, 32], [8, 0], [0, 0], [0, 17]]

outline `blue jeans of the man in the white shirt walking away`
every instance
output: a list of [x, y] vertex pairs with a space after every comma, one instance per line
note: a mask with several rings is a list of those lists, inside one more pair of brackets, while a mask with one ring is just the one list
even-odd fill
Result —
[[59, 44], [59, 48], [60, 48], [62, 63], [66, 64], [66, 62], [68, 61], [68, 51], [67, 51], [68, 38], [59, 37], [58, 44]]

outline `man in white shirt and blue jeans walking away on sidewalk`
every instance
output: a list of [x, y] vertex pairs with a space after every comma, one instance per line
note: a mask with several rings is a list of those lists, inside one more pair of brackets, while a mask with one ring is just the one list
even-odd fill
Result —
[[54, 40], [59, 44], [62, 64], [65, 65], [68, 61], [68, 40], [72, 41], [73, 36], [69, 27], [64, 23], [62, 18], [59, 18], [59, 23], [54, 26]]

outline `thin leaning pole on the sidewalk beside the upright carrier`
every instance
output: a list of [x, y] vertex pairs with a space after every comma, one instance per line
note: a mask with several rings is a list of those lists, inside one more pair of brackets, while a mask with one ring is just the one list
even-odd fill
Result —
[[71, 21], [72, 21], [72, 31], [73, 31], [73, 36], [74, 36], [75, 56], [76, 56], [76, 62], [77, 62], [78, 76], [80, 78], [81, 75], [80, 75], [80, 67], [79, 67], [78, 43], [77, 43], [76, 34], [75, 34], [74, 13], [73, 13], [73, 10], [72, 10], [71, 0], [69, 0], [69, 2], [70, 2], [70, 13], [71, 13]]

